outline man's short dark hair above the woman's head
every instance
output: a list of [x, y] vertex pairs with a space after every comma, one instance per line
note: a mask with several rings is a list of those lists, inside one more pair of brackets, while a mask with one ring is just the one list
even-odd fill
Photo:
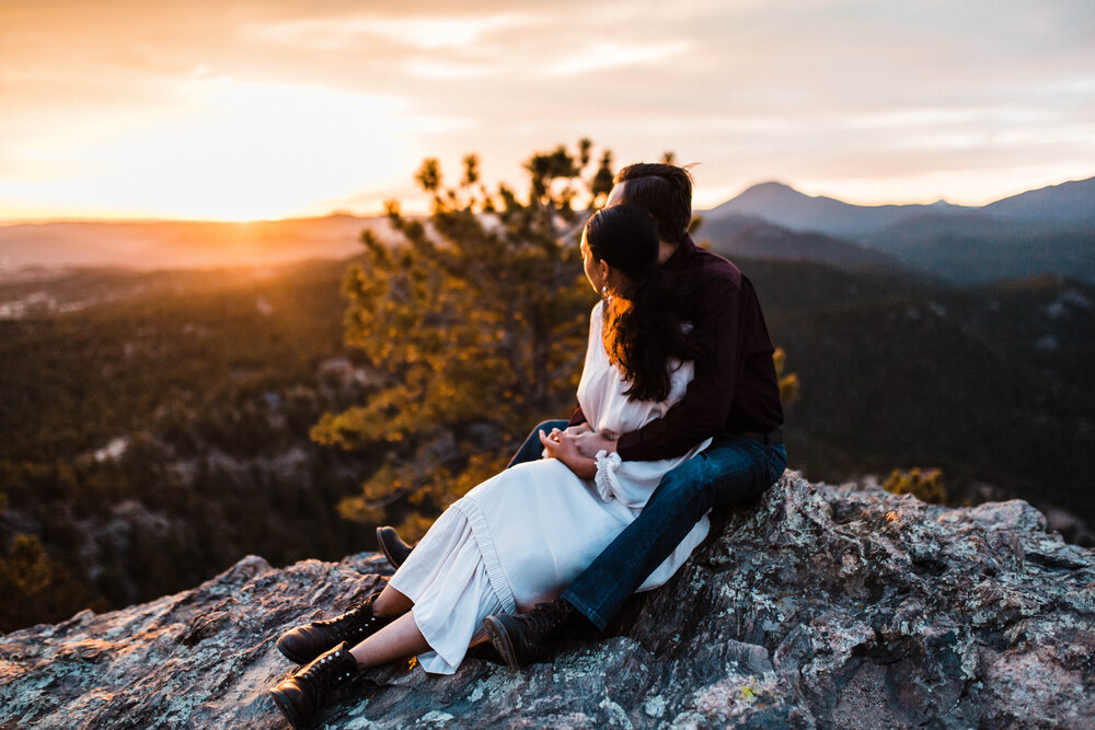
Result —
[[692, 175], [688, 170], [657, 162], [636, 162], [616, 173], [616, 185], [627, 183], [623, 200], [646, 208], [658, 224], [658, 237], [679, 243], [692, 222]]

